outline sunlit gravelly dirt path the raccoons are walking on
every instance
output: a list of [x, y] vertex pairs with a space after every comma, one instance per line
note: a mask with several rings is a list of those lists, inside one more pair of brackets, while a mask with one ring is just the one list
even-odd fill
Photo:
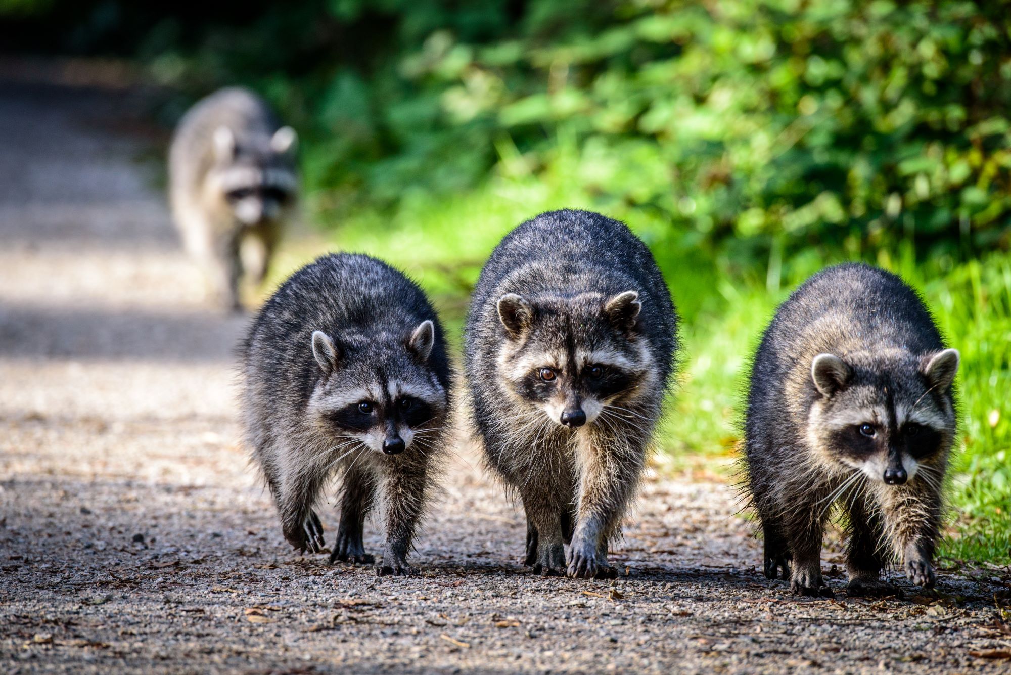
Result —
[[236, 441], [242, 321], [202, 308], [132, 104], [0, 87], [3, 670], [1007, 672], [972, 655], [1011, 649], [1007, 570], [942, 574], [939, 600], [795, 599], [719, 484], [652, 478], [615, 582], [521, 567], [522, 514], [465, 448], [421, 577], [294, 555]]

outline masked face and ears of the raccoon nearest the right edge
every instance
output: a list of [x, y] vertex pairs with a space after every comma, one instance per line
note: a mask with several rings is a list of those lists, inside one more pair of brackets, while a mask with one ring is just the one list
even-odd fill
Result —
[[[808, 439], [822, 458], [902, 485], [923, 471], [928, 483], [943, 476], [935, 465], [954, 437], [951, 383], [958, 352], [917, 359], [908, 353], [815, 357], [811, 377], [818, 395]], [[929, 474], [929, 475], [928, 475]]]

